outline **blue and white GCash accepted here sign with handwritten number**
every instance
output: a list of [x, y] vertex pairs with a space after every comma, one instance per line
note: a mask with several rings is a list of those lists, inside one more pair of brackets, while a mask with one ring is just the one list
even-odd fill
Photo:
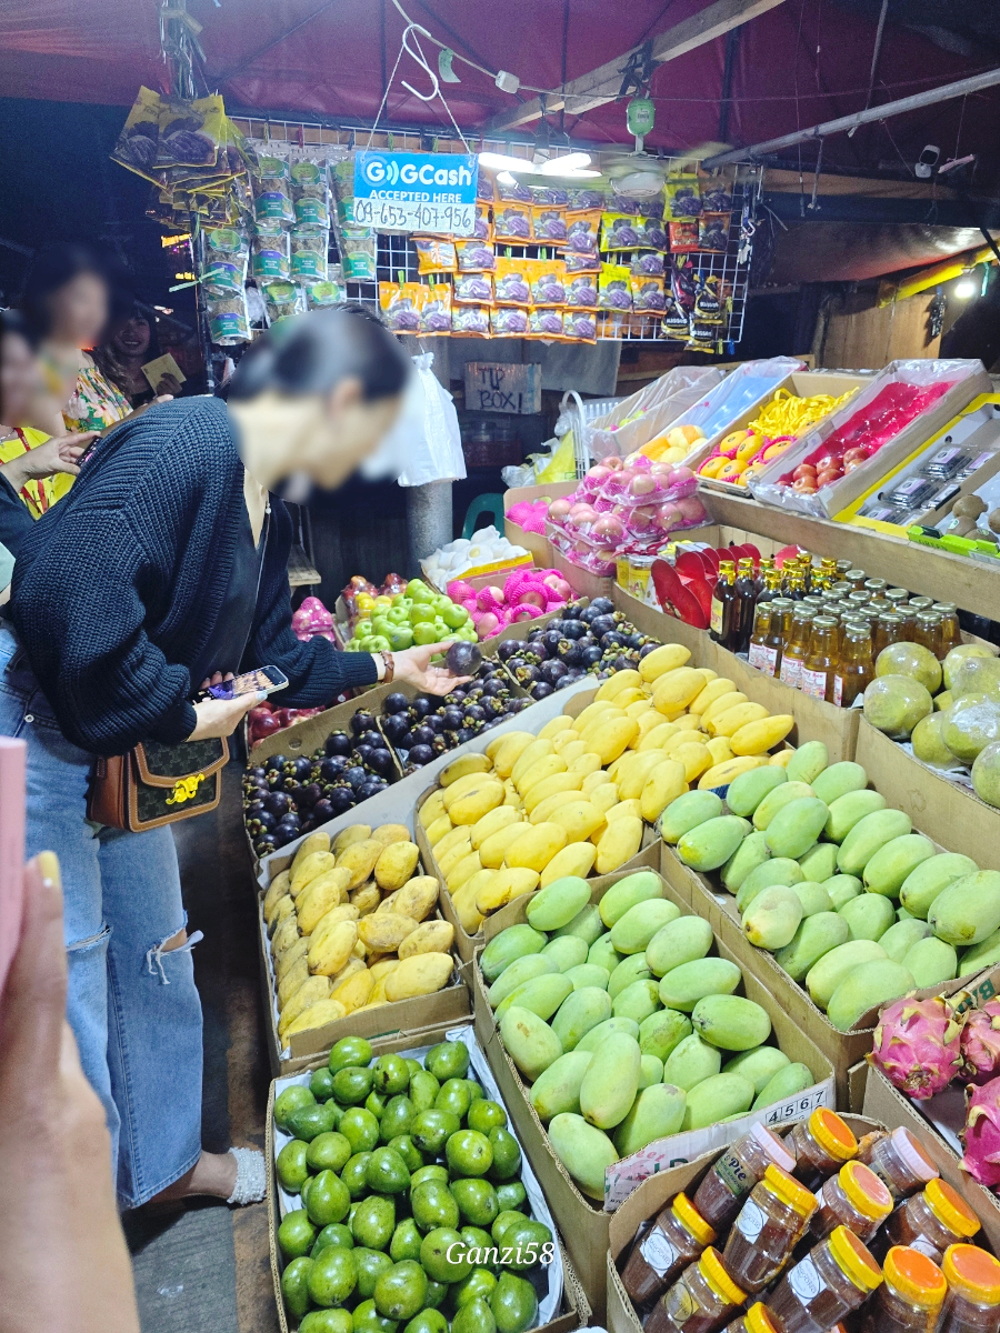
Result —
[[472, 236], [477, 177], [472, 153], [356, 153], [355, 221], [384, 232]]

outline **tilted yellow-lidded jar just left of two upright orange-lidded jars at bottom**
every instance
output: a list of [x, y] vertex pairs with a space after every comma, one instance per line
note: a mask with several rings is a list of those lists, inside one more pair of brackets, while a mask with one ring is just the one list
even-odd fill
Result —
[[829, 1236], [789, 1268], [765, 1305], [780, 1333], [827, 1333], [868, 1300], [881, 1282], [881, 1269], [847, 1226]]

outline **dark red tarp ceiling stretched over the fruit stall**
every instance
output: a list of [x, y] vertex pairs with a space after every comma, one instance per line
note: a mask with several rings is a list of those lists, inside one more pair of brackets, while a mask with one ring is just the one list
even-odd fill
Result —
[[[459, 55], [523, 83], [556, 88], [705, 8], [704, 0], [403, 0]], [[211, 87], [229, 107], [257, 112], [371, 120], [396, 60], [404, 21], [391, 0], [188, 0], [204, 25], [201, 43]], [[292, 31], [295, 29], [295, 31]], [[281, 35], [289, 35], [281, 39]], [[281, 40], [279, 40], [281, 39]], [[565, 40], [564, 40], [565, 39]], [[725, 139], [749, 144], [847, 115], [865, 103], [875, 25], [835, 0], [785, 0], [751, 20], [739, 36]], [[273, 43], [273, 44], [272, 44]], [[652, 84], [657, 128], [648, 147], [691, 149], [720, 139], [725, 37], [657, 67]], [[889, 20], [873, 101], [888, 101], [984, 68]], [[484, 75], [456, 63], [460, 84], [444, 85], [464, 129], [483, 129], [515, 104]], [[404, 56], [400, 77], [427, 87]], [[140, 83], [164, 88], [153, 0], [7, 0], [0, 12], [0, 92], [9, 97], [129, 104]], [[529, 96], [529, 95], [528, 95]], [[399, 87], [388, 100], [396, 125], [449, 128], [440, 103], [423, 104]], [[556, 117], [557, 120], [559, 117]], [[627, 143], [623, 104], [600, 107], [567, 129], [595, 143]], [[533, 127], [529, 127], [533, 132]], [[841, 135], [824, 167], [912, 165], [925, 143], [943, 157], [983, 155], [976, 184], [1000, 165], [1000, 93], [913, 112], [884, 125]], [[795, 153], [795, 151], [792, 151]], [[812, 160], [808, 145], [804, 160]]]

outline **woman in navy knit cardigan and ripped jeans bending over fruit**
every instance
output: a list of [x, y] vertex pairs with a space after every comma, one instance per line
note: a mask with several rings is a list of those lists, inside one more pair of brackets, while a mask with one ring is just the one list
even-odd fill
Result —
[[392, 425], [411, 369], [363, 313], [283, 321], [244, 356], [227, 403], [123, 423], [24, 537], [0, 625], [0, 734], [28, 741], [28, 854], [65, 885], [68, 1017], [112, 1137], [119, 1205], [248, 1202], [263, 1160], [201, 1150], [201, 1006], [169, 828], [87, 821], [99, 756], [229, 736], [257, 694], [193, 702], [203, 682], [277, 666], [289, 706], [383, 678], [447, 693], [441, 645], [340, 653], [292, 632], [292, 476], [333, 488]]

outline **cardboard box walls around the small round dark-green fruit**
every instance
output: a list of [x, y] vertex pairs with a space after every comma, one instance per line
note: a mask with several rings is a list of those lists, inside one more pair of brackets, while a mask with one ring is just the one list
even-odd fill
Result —
[[[465, 1030], [468, 1025], [464, 1025]], [[439, 1024], [431, 1028], [416, 1028], [408, 1032], [396, 1033], [393, 1037], [381, 1038], [372, 1041], [372, 1050], [375, 1056], [385, 1054], [388, 1052], [404, 1052], [407, 1056], [425, 1053], [431, 1046], [436, 1045], [439, 1041], [453, 1040], [456, 1036], [455, 1025], [452, 1024]], [[489, 1073], [489, 1065], [487, 1064], [483, 1052], [479, 1049], [471, 1050], [471, 1060], [476, 1074], [484, 1080], [485, 1085], [492, 1084], [492, 1077]], [[277, 1093], [283, 1090], [287, 1084], [291, 1082], [304, 1082], [305, 1073], [312, 1069], [319, 1069], [324, 1061], [313, 1062], [305, 1070], [301, 1070], [299, 1077], [275, 1080], [271, 1084], [271, 1090], [268, 1093], [268, 1108], [267, 1108], [267, 1128], [265, 1128], [265, 1144], [264, 1144], [264, 1158], [265, 1158], [265, 1172], [267, 1172], [267, 1205], [268, 1205], [268, 1242], [271, 1250], [271, 1276], [275, 1284], [275, 1304], [277, 1305], [277, 1320], [281, 1333], [289, 1333], [293, 1322], [289, 1324], [288, 1314], [285, 1312], [284, 1300], [281, 1297], [281, 1273], [284, 1270], [284, 1256], [281, 1254], [277, 1245], [277, 1228], [284, 1216], [284, 1202], [288, 1201], [288, 1196], [283, 1196], [281, 1185], [277, 1180], [276, 1170], [276, 1141], [279, 1140], [281, 1132], [276, 1130], [275, 1126], [275, 1100]], [[495, 1086], [488, 1086], [491, 1096], [497, 1097], [497, 1089]], [[533, 1177], [531, 1168], [531, 1160], [523, 1150], [523, 1157], [525, 1161], [525, 1173]], [[537, 1184], [537, 1182], [535, 1182]], [[527, 1184], [525, 1184], [527, 1188]], [[544, 1204], [544, 1200], [543, 1200]], [[549, 1222], [552, 1218], [549, 1217]], [[556, 1230], [555, 1224], [551, 1225], [551, 1230], [557, 1238], [559, 1253], [563, 1262], [563, 1292], [559, 1300], [557, 1310], [545, 1324], [539, 1324], [531, 1333], [572, 1333], [572, 1329], [587, 1326], [591, 1322], [591, 1308], [587, 1302], [583, 1286], [579, 1277], [573, 1272], [573, 1268], [567, 1257], [564, 1242]]]

